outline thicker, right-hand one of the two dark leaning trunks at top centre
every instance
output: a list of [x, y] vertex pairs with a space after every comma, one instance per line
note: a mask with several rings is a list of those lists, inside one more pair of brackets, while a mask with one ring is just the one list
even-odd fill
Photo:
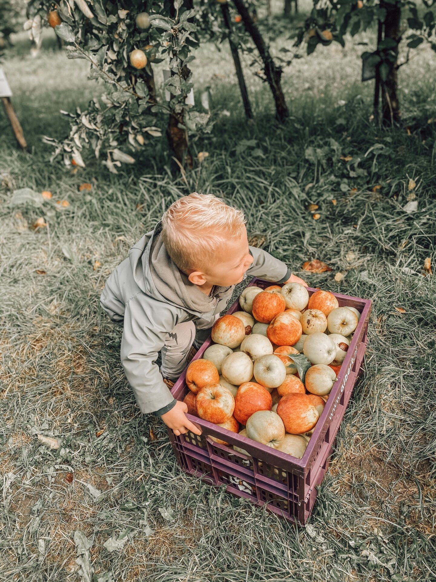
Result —
[[279, 121], [284, 122], [288, 117], [289, 112], [286, 106], [285, 97], [283, 90], [281, 88], [280, 78], [281, 78], [281, 67], [274, 63], [273, 58], [270, 55], [269, 49], [265, 44], [265, 41], [260, 34], [258, 27], [253, 22], [248, 9], [244, 5], [244, 0], [234, 0], [236, 9], [242, 17], [242, 22], [244, 22], [245, 30], [252, 37], [258, 51], [262, 58], [266, 79], [273, 93], [274, 101], [276, 102], [276, 117]]

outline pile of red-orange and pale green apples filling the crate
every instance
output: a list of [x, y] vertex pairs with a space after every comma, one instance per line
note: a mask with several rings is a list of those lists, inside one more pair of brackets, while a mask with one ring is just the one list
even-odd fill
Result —
[[[309, 298], [299, 283], [248, 287], [239, 301], [243, 311], [220, 317], [215, 343], [188, 366], [184, 402], [190, 414], [301, 459], [360, 313], [328, 291]], [[292, 359], [300, 353], [304, 384]]]

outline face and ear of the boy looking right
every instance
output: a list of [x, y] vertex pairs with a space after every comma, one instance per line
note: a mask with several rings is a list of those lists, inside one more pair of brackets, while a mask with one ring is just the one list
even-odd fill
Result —
[[245, 271], [251, 266], [253, 257], [248, 250], [246, 229], [240, 238], [231, 238], [217, 257], [214, 265], [206, 271], [194, 271], [189, 275], [195, 285], [228, 287], [240, 283]]

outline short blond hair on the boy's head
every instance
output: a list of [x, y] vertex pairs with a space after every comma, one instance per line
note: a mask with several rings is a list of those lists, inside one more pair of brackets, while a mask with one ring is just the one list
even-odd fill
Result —
[[216, 263], [229, 238], [240, 237], [244, 212], [213, 194], [192, 192], [178, 198], [162, 217], [162, 239], [181, 271], [206, 269]]

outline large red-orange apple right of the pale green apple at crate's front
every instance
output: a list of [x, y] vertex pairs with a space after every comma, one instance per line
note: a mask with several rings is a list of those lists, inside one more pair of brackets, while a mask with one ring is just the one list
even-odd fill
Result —
[[296, 435], [310, 431], [319, 418], [318, 411], [307, 394], [283, 396], [277, 404], [277, 414], [283, 420], [286, 432]]

